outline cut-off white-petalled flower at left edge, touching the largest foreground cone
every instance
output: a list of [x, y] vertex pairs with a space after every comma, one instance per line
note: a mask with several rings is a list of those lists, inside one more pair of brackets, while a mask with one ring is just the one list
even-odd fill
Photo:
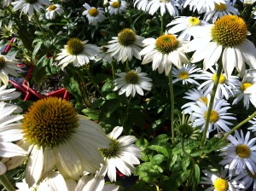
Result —
[[12, 143], [22, 139], [19, 122], [23, 116], [12, 114], [16, 109], [15, 106], [5, 105], [6, 103], [0, 102], [0, 157], [26, 156], [28, 153], [24, 149]]

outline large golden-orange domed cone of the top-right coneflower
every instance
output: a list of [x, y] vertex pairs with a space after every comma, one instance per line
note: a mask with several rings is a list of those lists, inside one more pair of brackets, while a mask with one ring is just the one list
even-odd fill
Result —
[[224, 15], [212, 26], [212, 40], [224, 47], [239, 45], [247, 38], [247, 24], [236, 15]]

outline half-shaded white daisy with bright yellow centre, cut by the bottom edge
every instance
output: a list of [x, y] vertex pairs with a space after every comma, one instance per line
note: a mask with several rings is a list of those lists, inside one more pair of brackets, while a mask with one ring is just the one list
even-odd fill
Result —
[[203, 170], [202, 172], [207, 177], [201, 177], [201, 183], [204, 185], [210, 185], [206, 191], [237, 191], [236, 187], [239, 182], [234, 179], [230, 179], [227, 175], [228, 168], [221, 168], [220, 173], [216, 171]]

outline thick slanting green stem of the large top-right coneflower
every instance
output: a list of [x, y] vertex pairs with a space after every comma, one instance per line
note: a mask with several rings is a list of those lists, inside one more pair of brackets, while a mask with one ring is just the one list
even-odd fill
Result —
[[208, 128], [209, 128], [210, 117], [211, 117], [211, 113], [212, 113], [212, 106], [213, 106], [215, 94], [216, 94], [216, 91], [217, 91], [217, 88], [218, 88], [218, 81], [219, 81], [219, 78], [220, 78], [220, 75], [221, 75], [221, 72], [222, 72], [222, 68], [223, 68], [221, 57], [222, 57], [222, 54], [221, 54], [220, 59], [219, 59], [218, 70], [217, 70], [217, 73], [216, 73], [216, 78], [214, 80], [211, 99], [210, 99], [208, 110], [207, 110], [207, 119], [206, 119], [205, 129], [204, 129], [203, 135], [201, 137], [201, 148], [205, 145], [205, 142], [206, 142], [207, 131], [208, 131]]

